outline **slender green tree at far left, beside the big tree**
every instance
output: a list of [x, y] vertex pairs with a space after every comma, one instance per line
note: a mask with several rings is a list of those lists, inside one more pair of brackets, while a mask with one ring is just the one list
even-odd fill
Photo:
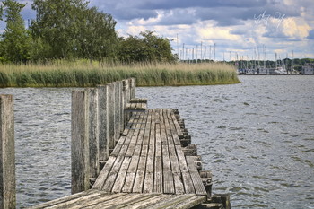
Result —
[[6, 28], [1, 41], [2, 57], [11, 62], [26, 62], [30, 58], [30, 36], [20, 14], [25, 4], [13, 0], [5, 0], [3, 4]]

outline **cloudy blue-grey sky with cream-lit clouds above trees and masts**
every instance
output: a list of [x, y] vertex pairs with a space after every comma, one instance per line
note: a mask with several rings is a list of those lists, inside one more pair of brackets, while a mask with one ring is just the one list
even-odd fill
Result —
[[[25, 20], [34, 19], [31, 1], [19, 2], [27, 3]], [[314, 58], [313, 0], [90, 0], [90, 5], [115, 18], [120, 36], [153, 30], [172, 39], [173, 52], [187, 59], [274, 60], [275, 53], [292, 58], [292, 51], [294, 57]]]

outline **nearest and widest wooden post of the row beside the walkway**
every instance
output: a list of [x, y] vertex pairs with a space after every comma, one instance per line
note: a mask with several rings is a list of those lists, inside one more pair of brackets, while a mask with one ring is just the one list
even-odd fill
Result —
[[87, 91], [72, 91], [72, 194], [90, 188], [89, 114]]

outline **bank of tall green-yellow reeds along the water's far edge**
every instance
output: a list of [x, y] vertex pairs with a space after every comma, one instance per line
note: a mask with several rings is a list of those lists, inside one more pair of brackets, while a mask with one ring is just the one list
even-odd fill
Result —
[[239, 83], [231, 65], [107, 65], [80, 60], [45, 65], [0, 65], [0, 87], [92, 87], [135, 77], [138, 86]]

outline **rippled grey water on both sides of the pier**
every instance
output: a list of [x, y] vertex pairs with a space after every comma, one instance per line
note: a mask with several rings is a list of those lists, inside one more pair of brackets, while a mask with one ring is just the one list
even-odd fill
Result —
[[[177, 108], [214, 193], [232, 208], [314, 208], [314, 77], [137, 88], [149, 108]], [[70, 194], [71, 89], [1, 89], [15, 97], [18, 207]]]

